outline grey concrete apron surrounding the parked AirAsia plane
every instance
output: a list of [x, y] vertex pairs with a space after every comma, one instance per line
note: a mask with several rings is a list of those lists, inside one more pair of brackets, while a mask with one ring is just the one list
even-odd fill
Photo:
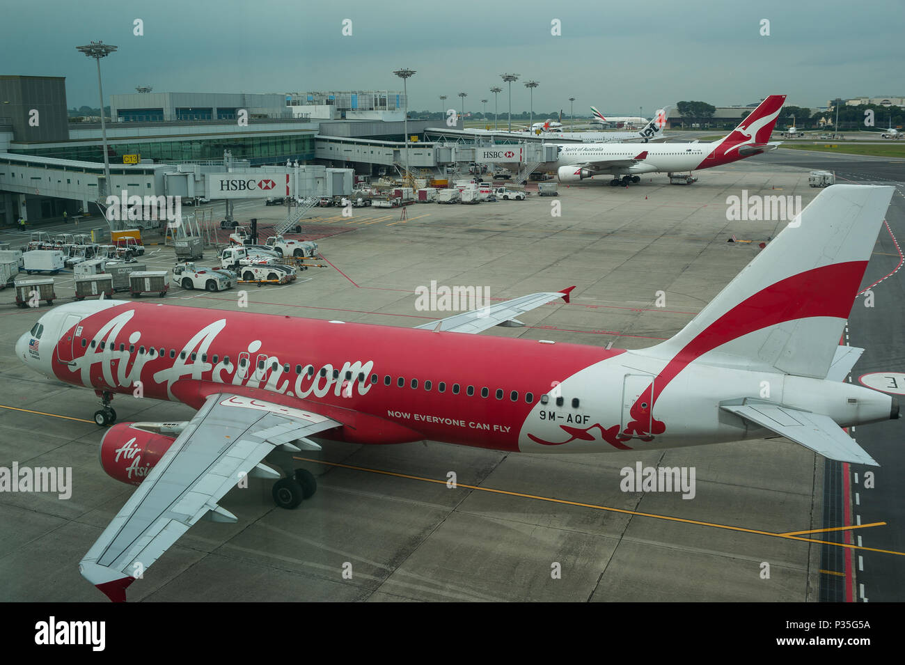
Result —
[[[319, 241], [329, 267], [304, 271], [284, 287], [248, 290], [250, 309], [414, 326], [444, 316], [414, 309], [415, 288], [431, 280], [487, 286], [493, 299], [574, 284], [571, 304], [525, 314], [525, 328], [483, 334], [650, 346], [691, 320], [757, 255], [757, 242], [785, 224], [728, 221], [729, 195], [800, 195], [807, 204], [819, 192], [800, 166], [746, 160], [697, 176], [689, 186], [643, 176], [628, 188], [605, 180], [559, 185], [555, 199], [415, 204], [405, 219], [399, 209], [358, 208], [351, 218], [338, 208], [318, 209], [306, 223], [348, 231]], [[557, 201], [562, 214], [552, 216]], [[894, 204], [899, 212], [901, 202]], [[281, 212], [237, 206], [240, 219], [262, 223]], [[894, 231], [905, 236], [905, 228]], [[732, 235], [751, 242], [727, 242]], [[151, 252], [142, 260], [149, 270], [172, 265], [168, 248]], [[213, 262], [213, 252], [205, 257], [199, 262]], [[881, 261], [888, 260], [884, 253]], [[58, 295], [71, 293], [69, 280], [58, 278]], [[658, 291], [665, 307], [657, 307]], [[233, 309], [237, 295], [174, 289], [166, 301]], [[94, 394], [34, 375], [14, 358], [15, 339], [45, 311], [0, 305], [0, 377], [7, 385], [0, 466], [71, 466], [72, 496], [0, 493], [0, 600], [100, 601], [78, 562], [131, 488], [100, 469]], [[113, 405], [119, 422], [193, 414], [127, 396]], [[798, 532], [824, 527], [824, 459], [783, 439], [568, 456], [436, 442], [324, 442], [323, 451], [302, 457], [300, 466], [318, 476], [312, 499], [288, 511], [273, 506], [269, 481], [233, 489], [222, 505], [238, 523], [192, 527], [129, 587], [129, 599], [818, 599], [824, 538]], [[620, 470], [638, 461], [693, 467], [694, 498], [622, 491]], [[447, 486], [451, 471], [454, 488]], [[901, 570], [900, 556], [878, 556]], [[852, 582], [860, 575], [830, 573]]]

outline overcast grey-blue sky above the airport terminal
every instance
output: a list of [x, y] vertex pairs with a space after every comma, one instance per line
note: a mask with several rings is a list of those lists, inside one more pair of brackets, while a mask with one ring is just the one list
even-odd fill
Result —
[[[93, 62], [75, 51], [116, 44], [102, 62], [110, 94], [156, 91], [287, 92], [402, 89], [410, 109], [481, 110], [500, 73], [520, 74], [513, 111], [645, 115], [664, 103], [745, 105], [786, 93], [786, 103], [822, 107], [836, 96], [905, 95], [905, 2], [869, 4], [611, 0], [38, 0], [5, 4], [2, 74], [65, 76], [69, 107], [97, 106]], [[340, 8], [342, 7], [342, 8]], [[681, 11], [679, 8], [683, 8]], [[687, 7], [688, 9], [684, 9]], [[142, 19], [144, 36], [133, 34]], [[352, 35], [342, 34], [350, 19]], [[558, 19], [561, 36], [551, 35]], [[761, 20], [770, 36], [761, 36]], [[452, 104], [451, 104], [452, 100]]]

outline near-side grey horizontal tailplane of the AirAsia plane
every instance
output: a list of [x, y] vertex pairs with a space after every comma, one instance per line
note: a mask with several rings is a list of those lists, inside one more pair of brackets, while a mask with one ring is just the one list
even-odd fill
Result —
[[748, 404], [720, 404], [719, 408], [785, 436], [828, 460], [880, 466], [842, 427], [823, 413], [750, 401]]

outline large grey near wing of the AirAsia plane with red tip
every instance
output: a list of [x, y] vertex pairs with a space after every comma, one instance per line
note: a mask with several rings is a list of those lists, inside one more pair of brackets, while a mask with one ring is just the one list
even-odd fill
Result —
[[299, 439], [319, 448], [305, 437], [341, 424], [249, 397], [211, 395], [82, 558], [81, 575], [111, 601], [125, 601], [129, 584], [208, 511], [214, 521], [235, 521], [217, 501], [244, 474], [278, 477], [259, 463], [271, 451], [299, 451], [290, 443]]

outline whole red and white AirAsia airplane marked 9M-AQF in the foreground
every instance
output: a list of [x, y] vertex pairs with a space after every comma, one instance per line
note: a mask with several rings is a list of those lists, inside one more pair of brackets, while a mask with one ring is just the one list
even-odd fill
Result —
[[[59, 305], [16, 343], [26, 366], [99, 394], [188, 404], [186, 423], [119, 423], [100, 464], [138, 489], [81, 561], [111, 600], [246, 475], [280, 479], [295, 508], [316, 489], [292, 454], [310, 439], [432, 440], [521, 452], [648, 451], [784, 436], [876, 464], [841, 429], [899, 416], [844, 381], [839, 346], [893, 188], [834, 185], [671, 339], [642, 350], [480, 337], [575, 287], [417, 328], [100, 300]], [[420, 328], [420, 329], [418, 329]], [[262, 462], [281, 469], [285, 477]]]

